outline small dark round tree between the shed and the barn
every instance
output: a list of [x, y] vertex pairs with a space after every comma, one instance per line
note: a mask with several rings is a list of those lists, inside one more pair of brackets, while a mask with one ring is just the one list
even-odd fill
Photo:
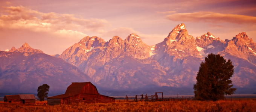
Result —
[[40, 99], [40, 102], [44, 101], [44, 98], [47, 96], [47, 91], [49, 91], [50, 86], [47, 84], [40, 85], [37, 89], [37, 97]]

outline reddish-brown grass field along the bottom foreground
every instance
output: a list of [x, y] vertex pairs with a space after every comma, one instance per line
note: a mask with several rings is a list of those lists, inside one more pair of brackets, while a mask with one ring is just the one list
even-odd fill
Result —
[[0, 112], [256, 112], [255, 100], [235, 102], [173, 101], [116, 102], [72, 105], [0, 103]]

